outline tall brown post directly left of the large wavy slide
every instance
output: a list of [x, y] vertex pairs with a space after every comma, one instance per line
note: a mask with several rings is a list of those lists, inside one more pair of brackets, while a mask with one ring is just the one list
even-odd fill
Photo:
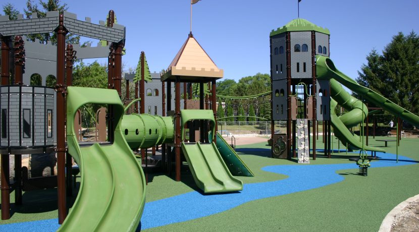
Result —
[[66, 34], [64, 15], [60, 14], [57, 34], [57, 184], [58, 184], [58, 223], [62, 224], [67, 217], [66, 208], [66, 135], [65, 135], [65, 50]]

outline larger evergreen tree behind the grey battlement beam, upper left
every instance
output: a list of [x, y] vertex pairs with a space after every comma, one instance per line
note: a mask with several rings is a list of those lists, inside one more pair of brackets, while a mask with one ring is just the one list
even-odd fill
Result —
[[[47, 2], [43, 2], [39, 0], [40, 7], [37, 4], [33, 3], [33, 0], [27, 0], [26, 8], [23, 10], [27, 19], [32, 18], [32, 14], [36, 13], [38, 18], [46, 17], [46, 12], [48, 11], [67, 11], [68, 7], [67, 4], [60, 4], [60, 0], [48, 0]], [[29, 41], [34, 42], [35, 39], [39, 39], [40, 43], [48, 43], [49, 41], [52, 44], [57, 44], [57, 35], [56, 33], [42, 33], [42, 34], [31, 34], [25, 35]], [[80, 36], [76, 36], [73, 34], [68, 34], [66, 36], [67, 43], [77, 44], [80, 42]]]

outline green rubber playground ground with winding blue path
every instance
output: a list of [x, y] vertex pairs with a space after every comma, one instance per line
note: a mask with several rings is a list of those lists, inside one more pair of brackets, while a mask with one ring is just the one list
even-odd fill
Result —
[[[337, 153], [336, 141], [333, 158], [328, 159], [321, 153], [320, 137], [318, 158], [310, 159], [308, 165], [269, 158], [270, 147], [266, 144], [237, 146], [240, 158], [255, 175], [238, 177], [244, 183], [240, 193], [203, 195], [187, 168], [182, 172], [182, 182], [175, 182], [163, 173], [150, 173], [142, 228], [146, 231], [377, 231], [393, 207], [419, 193], [419, 183], [412, 181], [417, 178], [419, 153], [414, 148], [419, 139], [401, 140], [399, 163], [396, 163], [395, 146], [385, 147], [386, 154], [377, 152], [382, 159], [372, 162], [368, 177], [358, 176], [358, 167], [348, 160], [358, 153], [346, 154], [342, 145]], [[372, 138], [369, 145], [383, 146]], [[12, 211], [10, 220], [0, 221], [0, 231], [54, 231], [59, 227], [56, 190], [24, 193], [24, 204], [19, 207], [13, 204], [13, 193], [11, 198], [12, 208], [16, 210]], [[178, 211], [182, 213], [174, 213]]]

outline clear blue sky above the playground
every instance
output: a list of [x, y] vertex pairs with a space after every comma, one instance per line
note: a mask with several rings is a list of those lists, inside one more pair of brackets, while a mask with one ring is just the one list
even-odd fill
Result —
[[[26, 0], [19, 2], [15, 7], [23, 12]], [[150, 71], [166, 69], [189, 33], [190, 0], [62, 2], [94, 23], [115, 11], [126, 26], [126, 70], [136, 67], [142, 50]], [[381, 52], [399, 31], [419, 32], [418, 9], [414, 0], [302, 0], [300, 18], [330, 30], [331, 59], [356, 78], [373, 48]], [[224, 77], [237, 81], [270, 72], [269, 33], [295, 18], [297, 0], [202, 0], [193, 5], [192, 32]]]

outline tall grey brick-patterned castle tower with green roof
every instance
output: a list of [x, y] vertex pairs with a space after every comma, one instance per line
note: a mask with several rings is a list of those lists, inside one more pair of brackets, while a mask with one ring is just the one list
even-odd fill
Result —
[[[328, 128], [330, 134], [330, 84], [328, 80], [316, 78], [316, 55], [329, 56], [329, 39], [328, 29], [300, 18], [270, 33], [272, 157], [295, 157], [297, 150], [300, 158], [301, 150], [308, 161], [310, 124], [313, 135], [316, 135], [317, 121], [323, 121], [323, 128]], [[286, 134], [275, 133], [278, 121], [286, 121]], [[298, 144], [296, 137], [299, 137]], [[311, 149], [316, 159], [316, 143]]]

